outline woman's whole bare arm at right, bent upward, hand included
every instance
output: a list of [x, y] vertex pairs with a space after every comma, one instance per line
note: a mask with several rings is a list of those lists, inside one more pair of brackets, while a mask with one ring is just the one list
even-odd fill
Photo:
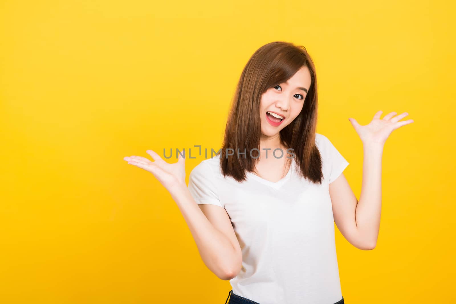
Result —
[[[382, 154], [386, 139], [395, 129], [412, 123], [399, 122], [408, 113], [396, 117], [391, 112], [380, 119], [378, 111], [373, 120], [365, 126], [349, 118], [363, 142], [363, 180], [359, 202], [343, 173], [329, 184], [334, 222], [342, 235], [357, 248], [375, 248], [380, 228], [382, 207]], [[393, 118], [392, 118], [393, 117]]]

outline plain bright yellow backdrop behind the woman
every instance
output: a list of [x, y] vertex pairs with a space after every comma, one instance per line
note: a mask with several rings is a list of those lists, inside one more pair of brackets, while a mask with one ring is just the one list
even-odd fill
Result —
[[336, 228], [346, 303], [455, 300], [454, 2], [223, 2], [1, 1], [0, 302], [224, 303], [229, 282], [169, 193], [123, 157], [218, 150], [240, 73], [271, 41], [313, 57], [317, 132], [358, 198], [348, 117], [415, 120], [384, 147], [377, 247]]

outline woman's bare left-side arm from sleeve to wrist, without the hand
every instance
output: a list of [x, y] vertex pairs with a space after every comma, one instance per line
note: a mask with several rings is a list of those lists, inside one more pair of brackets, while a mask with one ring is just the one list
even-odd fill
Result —
[[242, 267], [242, 253], [226, 210], [211, 204], [198, 205], [185, 184], [170, 190], [204, 264], [218, 278], [233, 279]]

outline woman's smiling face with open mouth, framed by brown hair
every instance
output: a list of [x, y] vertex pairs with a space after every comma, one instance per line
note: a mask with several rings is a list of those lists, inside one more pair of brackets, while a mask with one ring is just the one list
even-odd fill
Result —
[[[275, 136], [299, 115], [310, 86], [309, 68], [303, 66], [287, 82], [277, 84], [263, 93], [260, 116], [261, 133], [264, 137]], [[283, 119], [270, 115], [270, 112]]]

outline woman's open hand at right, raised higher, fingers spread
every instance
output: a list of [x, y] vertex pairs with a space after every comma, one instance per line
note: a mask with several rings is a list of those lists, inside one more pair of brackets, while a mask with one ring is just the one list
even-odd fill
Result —
[[390, 112], [385, 115], [383, 119], [380, 119], [380, 115], [382, 113], [383, 111], [375, 113], [372, 121], [365, 126], [360, 125], [354, 118], [348, 118], [363, 143], [376, 143], [383, 145], [391, 132], [399, 127], [413, 122], [412, 119], [399, 122], [399, 120], [409, 115], [407, 112], [404, 112], [396, 117], [393, 117], [397, 114], [396, 112]]

